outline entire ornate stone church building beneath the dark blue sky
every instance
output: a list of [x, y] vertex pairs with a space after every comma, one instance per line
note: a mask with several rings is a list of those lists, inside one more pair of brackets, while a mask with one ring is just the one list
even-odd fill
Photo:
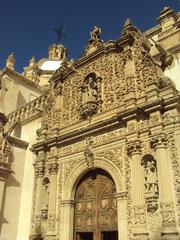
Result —
[[180, 239], [180, 16], [158, 23], [106, 43], [95, 26], [78, 60], [54, 44], [22, 74], [9, 56], [2, 240]]

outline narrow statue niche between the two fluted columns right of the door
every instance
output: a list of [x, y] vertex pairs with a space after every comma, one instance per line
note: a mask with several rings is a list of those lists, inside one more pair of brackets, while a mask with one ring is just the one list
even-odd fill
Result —
[[147, 203], [147, 211], [155, 212], [158, 209], [158, 176], [156, 160], [152, 155], [147, 154], [142, 159], [145, 180], [145, 198]]

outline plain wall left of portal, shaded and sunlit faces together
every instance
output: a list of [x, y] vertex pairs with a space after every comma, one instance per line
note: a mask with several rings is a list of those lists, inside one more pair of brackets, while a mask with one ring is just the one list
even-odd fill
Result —
[[2, 240], [27, 240], [29, 237], [34, 183], [34, 155], [29, 148], [35, 142], [40, 122], [39, 118], [22, 126], [21, 139], [29, 143], [27, 150], [12, 148], [13, 172], [6, 182], [4, 193]]

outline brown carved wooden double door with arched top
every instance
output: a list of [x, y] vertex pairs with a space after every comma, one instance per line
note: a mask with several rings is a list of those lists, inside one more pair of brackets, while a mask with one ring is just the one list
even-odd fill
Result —
[[117, 240], [116, 187], [102, 169], [87, 172], [75, 193], [74, 239]]

